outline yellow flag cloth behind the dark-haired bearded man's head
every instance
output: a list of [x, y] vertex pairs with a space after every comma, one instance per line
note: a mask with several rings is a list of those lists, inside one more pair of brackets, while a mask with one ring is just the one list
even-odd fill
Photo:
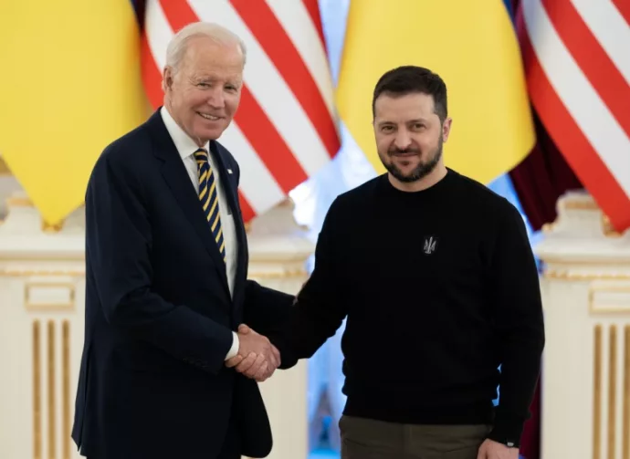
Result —
[[402, 65], [445, 81], [453, 127], [446, 165], [482, 183], [508, 172], [535, 142], [520, 48], [500, 0], [352, 1], [337, 94], [341, 119], [384, 172], [372, 128], [378, 78]]

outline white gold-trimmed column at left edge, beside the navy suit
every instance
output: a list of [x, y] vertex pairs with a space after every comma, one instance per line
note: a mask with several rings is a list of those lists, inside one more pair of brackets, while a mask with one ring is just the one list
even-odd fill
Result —
[[0, 457], [79, 457], [70, 439], [83, 343], [80, 211], [47, 233], [24, 196], [0, 225]]

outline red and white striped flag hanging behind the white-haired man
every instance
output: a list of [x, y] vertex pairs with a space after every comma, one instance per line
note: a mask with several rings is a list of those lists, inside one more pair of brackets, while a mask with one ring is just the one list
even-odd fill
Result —
[[163, 104], [166, 47], [187, 24], [226, 26], [247, 47], [239, 109], [219, 141], [241, 170], [245, 220], [281, 202], [340, 148], [317, 0], [147, 0], [142, 79]]

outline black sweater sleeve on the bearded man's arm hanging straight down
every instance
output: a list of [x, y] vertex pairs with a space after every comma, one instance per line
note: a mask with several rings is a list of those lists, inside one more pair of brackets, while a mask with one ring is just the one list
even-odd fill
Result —
[[509, 204], [497, 214], [490, 278], [501, 356], [499, 406], [491, 440], [519, 446], [544, 347], [541, 289], [525, 224]]

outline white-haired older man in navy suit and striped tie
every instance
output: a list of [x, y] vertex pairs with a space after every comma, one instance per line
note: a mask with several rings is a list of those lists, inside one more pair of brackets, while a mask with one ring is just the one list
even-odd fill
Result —
[[[72, 432], [89, 459], [271, 450], [257, 381], [278, 368], [264, 335], [294, 298], [247, 280], [238, 164], [216, 141], [238, 107], [245, 60], [225, 28], [184, 27], [168, 47], [163, 107], [112, 142], [89, 179]], [[247, 374], [226, 367], [235, 356], [253, 363]]]

